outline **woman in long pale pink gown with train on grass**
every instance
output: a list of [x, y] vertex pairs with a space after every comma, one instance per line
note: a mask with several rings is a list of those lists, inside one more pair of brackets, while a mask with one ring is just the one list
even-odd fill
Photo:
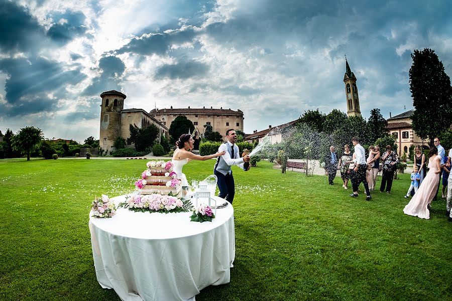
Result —
[[435, 195], [439, 182], [438, 174], [442, 170], [441, 156], [438, 156], [438, 149], [435, 146], [430, 148], [428, 157], [428, 168], [430, 170], [422, 181], [424, 184], [418, 188], [411, 201], [403, 209], [405, 214], [425, 219], [430, 218], [430, 211], [427, 207], [430, 207], [430, 202]]

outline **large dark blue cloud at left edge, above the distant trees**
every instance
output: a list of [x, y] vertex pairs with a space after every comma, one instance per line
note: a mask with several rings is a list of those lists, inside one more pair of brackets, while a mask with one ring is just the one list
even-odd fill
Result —
[[[7, 104], [0, 107], [8, 116], [53, 110], [58, 97], [66, 96], [66, 85], [86, 77], [80, 66], [65, 71], [60, 63], [43, 58], [0, 60], [0, 70], [9, 76], [5, 81]], [[50, 93], [57, 100], [49, 98]]]

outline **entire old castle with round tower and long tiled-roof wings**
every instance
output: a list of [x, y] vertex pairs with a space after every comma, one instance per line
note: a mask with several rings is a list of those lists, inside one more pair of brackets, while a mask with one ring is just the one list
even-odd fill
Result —
[[[118, 137], [124, 139], [130, 137], [130, 124], [137, 125], [139, 128], [146, 128], [154, 124], [159, 129], [160, 141], [161, 135], [169, 136], [168, 129], [171, 122], [177, 116], [186, 116], [195, 129], [193, 135], [196, 133], [200, 136], [204, 135], [205, 124], [212, 126], [213, 131], [219, 132], [223, 138], [226, 136], [226, 131], [230, 128], [243, 131], [243, 112], [241, 110], [214, 109], [210, 107], [202, 109], [153, 109], [146, 112], [144, 109], [124, 109], [124, 100], [126, 95], [116, 90], [105, 91], [100, 94], [102, 98], [100, 109], [100, 134], [99, 144], [103, 150], [111, 153], [115, 150], [113, 144]], [[177, 137], [178, 138], [178, 137]], [[128, 144], [127, 147], [134, 147], [133, 144]]]

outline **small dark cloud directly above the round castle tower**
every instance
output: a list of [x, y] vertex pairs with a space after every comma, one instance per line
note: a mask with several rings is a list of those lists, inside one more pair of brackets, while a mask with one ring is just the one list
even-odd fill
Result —
[[115, 56], [102, 57], [99, 60], [101, 73], [95, 77], [91, 84], [83, 91], [83, 95], [100, 95], [108, 90], [121, 91], [120, 77], [126, 70], [124, 62]]

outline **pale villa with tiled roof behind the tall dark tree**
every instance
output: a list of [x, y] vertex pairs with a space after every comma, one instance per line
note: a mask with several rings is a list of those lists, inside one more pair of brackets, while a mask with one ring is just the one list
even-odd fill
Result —
[[[402, 114], [396, 115], [388, 119], [388, 125], [386, 128], [389, 130], [389, 134], [396, 138], [397, 153], [402, 156], [403, 153], [407, 153], [411, 145], [426, 144], [426, 140], [422, 140], [413, 130], [411, 116], [414, 110], [409, 110]], [[391, 114], [391, 113], [390, 113]]]

